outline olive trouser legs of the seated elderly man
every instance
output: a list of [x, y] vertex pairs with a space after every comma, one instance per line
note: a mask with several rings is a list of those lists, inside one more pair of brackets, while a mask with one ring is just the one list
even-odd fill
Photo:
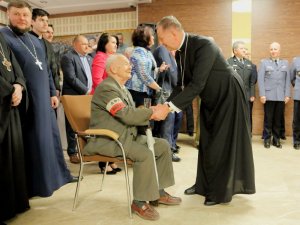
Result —
[[172, 156], [169, 143], [162, 138], [155, 138], [154, 152], [158, 172], [158, 182], [154, 170], [152, 152], [147, 146], [145, 135], [139, 135], [126, 150], [126, 156], [133, 163], [133, 199], [139, 201], [157, 200], [159, 189], [174, 185]]

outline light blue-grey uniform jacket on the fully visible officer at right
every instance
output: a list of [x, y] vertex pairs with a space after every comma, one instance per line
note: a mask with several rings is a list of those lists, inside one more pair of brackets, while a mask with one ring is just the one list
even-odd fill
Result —
[[290, 72], [287, 60], [280, 59], [278, 65], [271, 59], [261, 60], [258, 70], [259, 96], [268, 101], [284, 101], [290, 97]]

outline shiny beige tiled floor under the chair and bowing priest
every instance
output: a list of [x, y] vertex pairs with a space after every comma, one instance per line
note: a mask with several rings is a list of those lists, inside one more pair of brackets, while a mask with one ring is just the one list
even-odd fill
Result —
[[[76, 211], [72, 203], [76, 184], [68, 184], [50, 198], [35, 198], [31, 209], [8, 221], [9, 225], [299, 225], [300, 224], [300, 151], [293, 149], [291, 138], [281, 150], [265, 149], [253, 137], [256, 170], [255, 195], [237, 195], [228, 205], [206, 207], [201, 196], [185, 196], [183, 191], [195, 180], [197, 150], [191, 137], [181, 134], [179, 156], [174, 163], [175, 186], [168, 192], [182, 197], [180, 206], [159, 206], [158, 221], [128, 217], [124, 172], [107, 176], [99, 192], [100, 176], [96, 165], [86, 166]], [[70, 165], [73, 174], [77, 165]], [[131, 170], [130, 170], [131, 174]]]

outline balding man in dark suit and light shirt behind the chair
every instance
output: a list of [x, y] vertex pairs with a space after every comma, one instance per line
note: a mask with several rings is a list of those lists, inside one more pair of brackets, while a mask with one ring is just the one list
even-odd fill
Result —
[[[63, 72], [63, 95], [88, 95], [92, 91], [92, 57], [88, 54], [88, 40], [83, 35], [73, 39], [73, 49], [61, 58]], [[65, 116], [67, 152], [71, 163], [79, 163], [75, 133]]]

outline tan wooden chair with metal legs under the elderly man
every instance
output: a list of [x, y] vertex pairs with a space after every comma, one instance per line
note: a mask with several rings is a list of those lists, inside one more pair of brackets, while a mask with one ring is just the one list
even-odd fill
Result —
[[[124, 148], [122, 143], [119, 141], [119, 135], [108, 129], [89, 129], [90, 117], [91, 117], [91, 101], [92, 95], [63, 95], [61, 97], [61, 102], [64, 107], [66, 117], [75, 132], [75, 137], [77, 140], [78, 156], [80, 159], [80, 169], [79, 169], [79, 179], [77, 181], [76, 192], [73, 202], [73, 210], [75, 210], [77, 205], [77, 198], [80, 188], [80, 182], [82, 180], [84, 165], [95, 163], [95, 162], [106, 162], [105, 172], [102, 176], [100, 190], [102, 190], [102, 185], [104, 177], [107, 172], [108, 162], [122, 162], [125, 168], [125, 181], [128, 199], [128, 211], [129, 216], [132, 218], [131, 213], [131, 192], [128, 176], [127, 164], [132, 163], [132, 161], [126, 159]], [[122, 158], [109, 157], [105, 155], [83, 155], [83, 148], [87, 143], [87, 139], [96, 136], [106, 136], [115, 141], [120, 149], [122, 150]]]

